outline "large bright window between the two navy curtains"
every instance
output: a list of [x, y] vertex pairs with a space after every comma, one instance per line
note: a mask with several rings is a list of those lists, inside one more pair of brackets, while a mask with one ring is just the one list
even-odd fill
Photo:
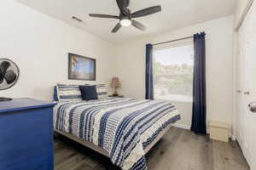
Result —
[[192, 41], [154, 47], [154, 99], [193, 101]]

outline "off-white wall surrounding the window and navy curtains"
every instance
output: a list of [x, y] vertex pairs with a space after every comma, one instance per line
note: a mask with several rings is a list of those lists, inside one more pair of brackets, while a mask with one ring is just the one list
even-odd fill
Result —
[[[116, 49], [118, 53], [116, 76], [120, 77], [123, 84], [120, 91], [126, 97], [144, 99], [146, 43], [166, 42], [188, 37], [199, 31], [207, 32], [207, 120], [229, 122], [231, 126], [233, 16], [119, 45]], [[179, 122], [180, 126], [190, 127], [191, 104], [175, 103], [175, 105], [183, 117], [183, 121]]]

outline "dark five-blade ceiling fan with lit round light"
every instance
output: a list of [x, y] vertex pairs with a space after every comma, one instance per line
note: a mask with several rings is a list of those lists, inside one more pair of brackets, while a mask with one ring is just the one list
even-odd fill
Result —
[[157, 5], [154, 7], [144, 8], [135, 13], [131, 13], [131, 10], [128, 8], [130, 0], [116, 0], [116, 3], [118, 4], [120, 10], [119, 16], [109, 14], [89, 14], [90, 17], [119, 20], [119, 23], [114, 26], [112, 33], [119, 31], [122, 26], [131, 25], [137, 27], [137, 29], [141, 31], [145, 31], [147, 29], [146, 26], [143, 26], [143, 24], [133, 19], [143, 17], [149, 14], [158, 13], [161, 11], [160, 5]]

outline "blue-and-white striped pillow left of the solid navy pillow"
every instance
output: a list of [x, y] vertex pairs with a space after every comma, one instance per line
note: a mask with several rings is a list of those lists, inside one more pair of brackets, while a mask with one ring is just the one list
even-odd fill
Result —
[[81, 91], [79, 85], [58, 84], [55, 86], [58, 101], [81, 101]]

